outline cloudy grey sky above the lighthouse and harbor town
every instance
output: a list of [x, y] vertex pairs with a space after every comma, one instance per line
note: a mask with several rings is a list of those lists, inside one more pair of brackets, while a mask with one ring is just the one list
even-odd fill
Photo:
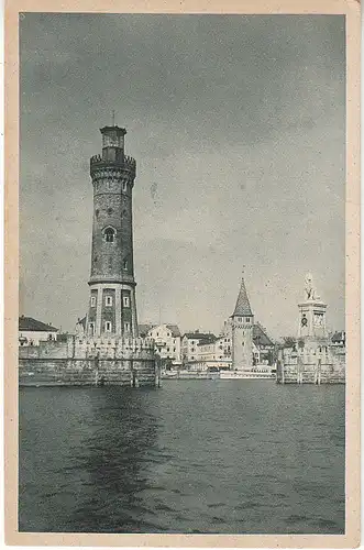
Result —
[[295, 334], [310, 271], [344, 328], [343, 16], [24, 13], [20, 64], [20, 314], [71, 331], [87, 311], [114, 110], [140, 322], [218, 333], [244, 270], [255, 319]]

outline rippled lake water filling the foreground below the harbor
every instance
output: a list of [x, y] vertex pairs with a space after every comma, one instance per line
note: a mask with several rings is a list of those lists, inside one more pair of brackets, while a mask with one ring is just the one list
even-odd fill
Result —
[[344, 386], [20, 389], [21, 531], [344, 532]]

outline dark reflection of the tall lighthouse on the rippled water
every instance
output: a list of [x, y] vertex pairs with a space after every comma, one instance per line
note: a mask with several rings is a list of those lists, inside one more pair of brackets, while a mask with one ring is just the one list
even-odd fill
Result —
[[143, 408], [141, 393], [110, 388], [101, 396], [92, 408], [92, 433], [75, 450], [71, 466], [88, 476], [91, 492], [66, 529], [139, 531], [147, 513], [139, 495], [147, 486], [145, 464], [156, 444], [155, 418]]

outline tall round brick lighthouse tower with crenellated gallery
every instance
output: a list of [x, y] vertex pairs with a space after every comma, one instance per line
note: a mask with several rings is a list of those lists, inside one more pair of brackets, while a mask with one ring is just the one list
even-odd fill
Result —
[[90, 160], [93, 222], [88, 337], [137, 337], [132, 194], [135, 161], [124, 153], [126, 130], [100, 129], [102, 154]]

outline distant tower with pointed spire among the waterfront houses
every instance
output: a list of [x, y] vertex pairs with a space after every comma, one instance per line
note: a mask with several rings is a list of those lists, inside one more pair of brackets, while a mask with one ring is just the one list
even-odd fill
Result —
[[254, 316], [245, 288], [244, 275], [235, 309], [230, 320], [232, 328], [232, 369], [233, 371], [250, 371], [253, 367]]

